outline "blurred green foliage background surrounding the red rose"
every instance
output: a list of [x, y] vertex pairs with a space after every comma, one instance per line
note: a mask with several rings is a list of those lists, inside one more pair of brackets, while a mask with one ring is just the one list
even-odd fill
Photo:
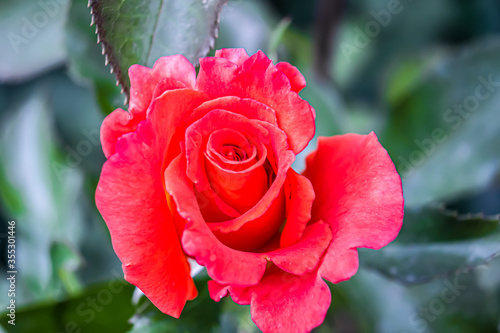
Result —
[[[86, 0], [0, 0], [0, 331], [259, 332], [203, 272], [178, 321], [122, 280], [94, 192], [123, 96], [89, 23]], [[297, 66], [317, 135], [375, 131], [403, 178], [400, 236], [360, 250], [315, 332], [500, 332], [500, 2], [229, 0], [222, 47]]]

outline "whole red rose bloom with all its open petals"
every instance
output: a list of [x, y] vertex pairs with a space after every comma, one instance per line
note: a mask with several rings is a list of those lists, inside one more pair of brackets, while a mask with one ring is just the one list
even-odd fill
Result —
[[96, 202], [125, 279], [178, 318], [197, 296], [250, 304], [265, 332], [320, 325], [358, 247], [398, 234], [401, 179], [374, 133], [318, 138], [302, 174], [291, 166], [315, 133], [292, 65], [223, 49], [195, 68], [181, 55], [129, 69], [129, 112], [103, 122], [107, 161]]

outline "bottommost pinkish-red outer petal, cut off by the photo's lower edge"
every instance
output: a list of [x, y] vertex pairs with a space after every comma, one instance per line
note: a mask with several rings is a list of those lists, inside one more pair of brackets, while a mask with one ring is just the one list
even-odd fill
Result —
[[227, 292], [238, 304], [250, 304], [252, 320], [263, 332], [309, 332], [325, 319], [330, 289], [317, 271], [292, 275], [271, 267], [257, 286], [239, 288], [209, 281], [210, 296]]

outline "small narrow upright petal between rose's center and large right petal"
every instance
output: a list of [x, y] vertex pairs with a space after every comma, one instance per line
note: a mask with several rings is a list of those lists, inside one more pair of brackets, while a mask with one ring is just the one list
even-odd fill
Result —
[[280, 247], [297, 242], [311, 219], [311, 209], [315, 198], [311, 182], [293, 169], [288, 170], [287, 184], [287, 221], [280, 239]]

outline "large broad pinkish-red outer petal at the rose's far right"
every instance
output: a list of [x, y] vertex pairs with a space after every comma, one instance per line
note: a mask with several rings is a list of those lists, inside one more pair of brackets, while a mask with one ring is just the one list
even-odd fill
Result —
[[398, 235], [401, 178], [373, 132], [319, 138], [304, 175], [316, 192], [312, 220], [329, 223], [334, 235], [319, 272], [333, 283], [346, 280], [357, 270], [355, 248], [379, 249]]

